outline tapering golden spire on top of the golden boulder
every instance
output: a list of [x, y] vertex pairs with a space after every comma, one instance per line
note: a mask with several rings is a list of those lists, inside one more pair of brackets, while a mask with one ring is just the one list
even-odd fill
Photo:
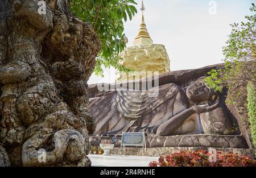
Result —
[[150, 38], [150, 35], [148, 34], [147, 28], [146, 28], [146, 23], [144, 20], [144, 11], [145, 11], [145, 6], [142, 0], [142, 5], [141, 5], [141, 11], [142, 11], [142, 20], [141, 20], [141, 25], [139, 28], [138, 35], [135, 37], [133, 41], [133, 45], [146, 45], [146, 44], [153, 44], [152, 39]]

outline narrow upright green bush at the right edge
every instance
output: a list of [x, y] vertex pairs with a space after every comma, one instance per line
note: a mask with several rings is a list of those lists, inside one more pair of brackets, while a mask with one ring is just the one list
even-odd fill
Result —
[[250, 122], [251, 137], [253, 138], [253, 145], [256, 148], [256, 86], [253, 82], [247, 85], [247, 110]]

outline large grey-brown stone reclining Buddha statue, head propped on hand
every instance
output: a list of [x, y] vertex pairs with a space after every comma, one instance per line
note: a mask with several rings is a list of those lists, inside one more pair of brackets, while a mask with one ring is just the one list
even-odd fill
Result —
[[147, 135], [230, 135], [233, 123], [220, 106], [219, 97], [205, 85], [204, 77], [185, 88], [169, 83], [153, 89], [106, 91], [90, 98], [89, 111], [96, 121], [93, 135], [143, 132]]

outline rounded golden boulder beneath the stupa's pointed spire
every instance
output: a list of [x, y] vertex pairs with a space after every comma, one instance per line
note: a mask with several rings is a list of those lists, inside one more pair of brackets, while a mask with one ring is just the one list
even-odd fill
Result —
[[[128, 47], [120, 56], [123, 59], [122, 65], [134, 71], [170, 72], [170, 60], [162, 44]], [[126, 80], [121, 75], [117, 72], [117, 81]], [[142, 74], [143, 77], [146, 74]]]

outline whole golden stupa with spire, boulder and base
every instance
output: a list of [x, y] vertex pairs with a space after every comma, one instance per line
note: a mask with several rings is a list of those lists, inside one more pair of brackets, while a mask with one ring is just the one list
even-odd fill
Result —
[[132, 69], [133, 73], [116, 72], [116, 81], [138, 80], [147, 77], [148, 73], [170, 72], [170, 60], [166, 48], [162, 44], [154, 44], [144, 20], [144, 4], [142, 1], [142, 20], [133, 46], [127, 47], [120, 56], [120, 62], [126, 68]]

